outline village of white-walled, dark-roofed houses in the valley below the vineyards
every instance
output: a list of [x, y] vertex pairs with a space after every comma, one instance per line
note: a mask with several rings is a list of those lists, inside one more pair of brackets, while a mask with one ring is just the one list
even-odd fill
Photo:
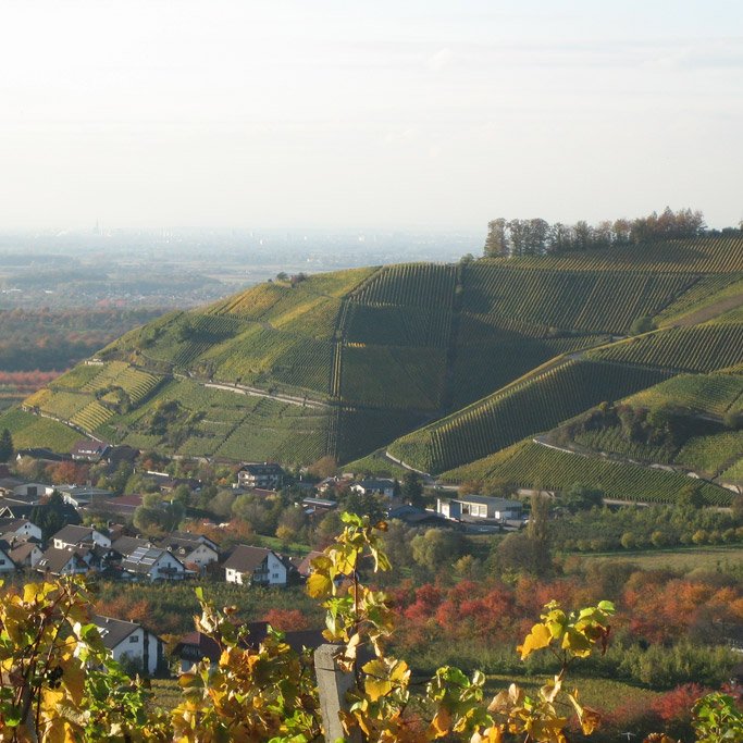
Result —
[[[49, 472], [62, 462], [95, 466], [110, 473], [125, 466], [136, 473], [141, 453], [84, 439], [70, 453], [20, 450], [14, 467], [0, 465], [0, 573], [3, 575], [14, 574], [23, 580], [87, 575], [122, 585], [191, 581], [195, 584], [221, 582], [245, 591], [255, 586], [283, 589], [301, 585], [312, 571], [312, 559], [321, 554], [318, 549], [305, 555], [285, 554], [281, 548], [250, 543], [261, 542], [260, 537], [223, 542], [215, 535], [220, 529], [228, 530], [230, 523], [218, 523], [203, 516], [187, 518], [189, 509], [183, 510], [184, 529], [174, 524], [172, 529], [150, 530], [147, 534], [137, 529], [134, 517], [137, 509], [145, 507], [144, 503], [151, 504], [154, 496], [168, 508], [173, 504], [176, 488], [196, 494], [206, 486], [197, 478], [145, 470], [141, 478], [154, 493], [143, 495], [116, 494], [89, 482], [30, 481], [20, 474], [29, 468], [41, 473], [42, 465]], [[314, 482], [311, 478], [297, 482], [271, 462], [246, 462], [233, 470], [230, 490], [235, 497], [250, 494], [268, 501], [276, 499], [282, 488], [289, 486], [295, 499], [287, 509], [300, 512], [302, 519], [315, 524], [330, 513], [337, 516], [344, 504], [346, 508], [352, 508], [351, 504], [366, 507], [377, 517], [419, 528], [479, 533], [513, 530], [523, 523], [520, 500], [476, 494], [424, 498], [417, 478], [411, 478], [416, 497], [406, 498], [401, 492], [404, 486], [391, 478], [357, 478], [345, 473]], [[339, 499], [339, 492], [347, 493], [350, 499]], [[190, 531], [189, 527], [195, 523], [201, 529]], [[166, 657], [165, 643], [146, 621], [97, 615], [95, 622], [114, 659], [132, 672], [169, 674], [219, 655], [215, 643], [200, 632], [184, 634]], [[247, 629], [249, 642], [258, 645], [268, 632], [268, 622], [250, 621]], [[297, 649], [317, 647], [322, 643], [322, 634], [319, 629], [298, 630], [288, 632], [286, 641]]]

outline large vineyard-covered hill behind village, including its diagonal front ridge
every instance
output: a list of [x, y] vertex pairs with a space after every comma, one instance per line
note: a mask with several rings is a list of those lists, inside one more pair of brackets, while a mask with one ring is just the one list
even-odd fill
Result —
[[[442, 472], [676, 374], [734, 371], [742, 280], [743, 239], [714, 237], [267, 283], [127, 333], [0, 426], [20, 446], [85, 433], [285, 463], [388, 447]], [[643, 318], [662, 329], [622, 339]]]

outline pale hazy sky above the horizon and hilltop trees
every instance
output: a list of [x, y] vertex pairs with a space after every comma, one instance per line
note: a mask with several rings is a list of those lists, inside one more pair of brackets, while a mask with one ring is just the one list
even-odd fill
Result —
[[743, 219], [740, 0], [3, 0], [0, 230]]

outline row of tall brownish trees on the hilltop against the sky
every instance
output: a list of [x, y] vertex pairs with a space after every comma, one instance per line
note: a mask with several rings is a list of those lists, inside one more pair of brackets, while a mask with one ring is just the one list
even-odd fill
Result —
[[618, 219], [590, 225], [585, 221], [575, 224], [543, 219], [506, 220], [499, 218], [487, 224], [485, 257], [544, 256], [569, 250], [595, 250], [599, 248], [632, 245], [648, 239], [695, 237], [705, 231], [701, 211], [669, 207], [658, 214], [634, 220]]

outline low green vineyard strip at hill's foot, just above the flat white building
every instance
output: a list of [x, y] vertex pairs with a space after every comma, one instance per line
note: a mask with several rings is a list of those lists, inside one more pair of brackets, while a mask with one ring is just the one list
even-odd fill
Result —
[[[599, 487], [607, 498], [640, 503], [672, 504], [688, 476], [678, 472], [615, 462], [560, 451], [532, 442], [517, 444], [510, 450], [446, 472], [445, 481], [497, 481], [520, 487], [565, 490], [574, 483]], [[699, 482], [705, 501], [710, 506], [730, 504], [732, 493]]]

